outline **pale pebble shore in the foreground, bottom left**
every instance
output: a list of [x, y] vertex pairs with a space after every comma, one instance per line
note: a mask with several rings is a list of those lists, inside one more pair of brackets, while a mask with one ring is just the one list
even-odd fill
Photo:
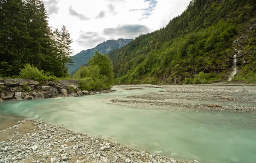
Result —
[[185, 163], [32, 119], [0, 131], [0, 162]]

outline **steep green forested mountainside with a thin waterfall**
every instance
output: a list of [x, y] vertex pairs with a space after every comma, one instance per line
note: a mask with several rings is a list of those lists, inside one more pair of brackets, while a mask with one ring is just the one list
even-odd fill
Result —
[[256, 82], [256, 0], [192, 0], [166, 27], [109, 53], [115, 82]]

